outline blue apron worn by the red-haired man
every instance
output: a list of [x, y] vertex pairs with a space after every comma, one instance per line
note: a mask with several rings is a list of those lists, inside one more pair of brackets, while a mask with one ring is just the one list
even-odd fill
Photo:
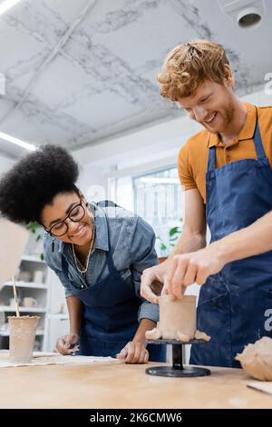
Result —
[[[218, 169], [216, 147], [209, 148], [206, 215], [211, 242], [272, 209], [272, 169], [258, 121], [253, 138], [257, 160], [238, 160]], [[272, 252], [226, 264], [200, 288], [198, 329], [209, 333], [211, 341], [192, 346], [190, 363], [240, 367], [234, 358], [245, 345], [264, 335], [272, 337], [266, 327], [271, 308]]]

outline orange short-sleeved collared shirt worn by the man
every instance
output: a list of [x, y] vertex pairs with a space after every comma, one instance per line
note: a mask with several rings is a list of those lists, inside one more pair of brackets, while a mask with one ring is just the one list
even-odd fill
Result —
[[[206, 173], [209, 147], [216, 146], [216, 167], [242, 159], [256, 159], [253, 134], [258, 116], [258, 124], [267, 159], [272, 167], [272, 106], [256, 107], [246, 104], [248, 109], [246, 123], [238, 138], [224, 145], [218, 134], [210, 134], [204, 129], [193, 135], [180, 149], [179, 174], [184, 190], [198, 188], [206, 204]], [[257, 112], [257, 114], [256, 114]], [[271, 188], [272, 192], [272, 188]]]

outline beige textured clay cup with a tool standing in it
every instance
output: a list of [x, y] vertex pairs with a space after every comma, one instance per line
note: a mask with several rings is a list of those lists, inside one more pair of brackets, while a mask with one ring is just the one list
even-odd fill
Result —
[[31, 361], [39, 319], [39, 316], [8, 316], [10, 362], [27, 363]]

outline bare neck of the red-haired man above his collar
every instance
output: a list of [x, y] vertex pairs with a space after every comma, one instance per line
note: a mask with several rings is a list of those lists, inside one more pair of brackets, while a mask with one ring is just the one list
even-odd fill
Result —
[[247, 120], [247, 106], [241, 101], [237, 100], [234, 105], [233, 119], [228, 124], [228, 129], [219, 133], [220, 139], [223, 144], [228, 145], [231, 141], [238, 137], [238, 134], [244, 127]]

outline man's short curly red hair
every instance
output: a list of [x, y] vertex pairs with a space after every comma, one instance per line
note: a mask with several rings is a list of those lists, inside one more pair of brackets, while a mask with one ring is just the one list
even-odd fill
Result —
[[205, 80], [223, 84], [225, 65], [229, 65], [224, 48], [209, 40], [194, 40], [174, 47], [166, 57], [157, 80], [160, 94], [171, 101], [194, 94]]

